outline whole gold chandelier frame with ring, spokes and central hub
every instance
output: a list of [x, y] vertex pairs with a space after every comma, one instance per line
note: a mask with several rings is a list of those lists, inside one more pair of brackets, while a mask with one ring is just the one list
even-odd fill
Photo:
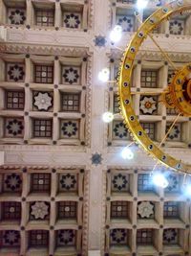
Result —
[[[154, 170], [158, 164], [162, 164], [171, 170], [184, 174], [191, 174], [191, 165], [183, 163], [181, 160], [176, 159], [162, 151], [161, 146], [176, 125], [176, 122], [179, 120], [180, 116], [191, 117], [191, 63], [177, 69], [171, 58], [169, 58], [168, 54], [161, 49], [159, 43], [150, 33], [156, 27], [158, 27], [163, 20], [168, 19], [172, 14], [186, 12], [190, 9], [190, 0], [176, 0], [159, 8], [150, 17], [148, 17], [144, 23], [141, 24], [138, 32], [136, 35], [134, 35], [127, 49], [125, 50], [117, 78], [119, 94], [118, 99], [124, 122], [132, 133], [134, 141], [136, 141], [138, 145], [140, 145], [148, 154], [157, 159], [158, 162], [155, 165]], [[167, 130], [159, 146], [148, 137], [148, 134], [139, 124], [138, 117], [134, 111], [131, 96], [131, 77], [134, 60], [138, 54], [138, 50], [142, 42], [148, 36], [158, 47], [161, 55], [169, 62], [173, 69], [176, 70], [174, 78], [161, 93], [159, 102], [171, 108], [175, 108], [178, 111], [178, 116]]]

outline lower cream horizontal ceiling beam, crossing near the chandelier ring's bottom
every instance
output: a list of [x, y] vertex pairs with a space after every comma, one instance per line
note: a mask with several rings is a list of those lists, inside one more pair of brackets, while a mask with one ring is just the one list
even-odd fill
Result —
[[[9, 147], [9, 146], [4, 146]], [[20, 149], [19, 149], [20, 147]], [[26, 146], [24, 146], [26, 147]], [[87, 168], [93, 168], [91, 164], [91, 157], [94, 151], [73, 151], [72, 147], [70, 151], [66, 151], [65, 147], [59, 147], [57, 150], [49, 150], [43, 147], [41, 150], [39, 147], [32, 146], [33, 150], [21, 150], [21, 146], [14, 148], [11, 146], [11, 149], [3, 150], [3, 147], [0, 147], [1, 151], [5, 151], [5, 165], [40, 165], [40, 166], [68, 166], [74, 168], [77, 165], [85, 165]], [[49, 147], [49, 146], [48, 146]], [[35, 149], [35, 151], [34, 151]], [[59, 150], [60, 149], [60, 150]], [[75, 149], [75, 148], [74, 148]], [[143, 151], [138, 150], [137, 155], [131, 161], [122, 159], [121, 157], [116, 157], [119, 154], [121, 148], [111, 147], [108, 152], [102, 153], [103, 162], [99, 167], [105, 169], [107, 167], [113, 166], [129, 166], [136, 168], [148, 168], [156, 164], [156, 159], [153, 159], [151, 156], [147, 156]], [[180, 149], [167, 149], [168, 153], [179, 158]], [[190, 163], [190, 149], [182, 149], [182, 160], [184, 162]], [[145, 161], [146, 159], [146, 161]]]

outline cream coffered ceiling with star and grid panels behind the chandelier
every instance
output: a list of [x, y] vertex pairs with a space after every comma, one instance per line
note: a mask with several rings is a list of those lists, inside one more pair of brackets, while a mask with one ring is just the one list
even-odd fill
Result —
[[[150, 1], [142, 20], [162, 1]], [[0, 255], [191, 255], [190, 198], [184, 176], [135, 146], [123, 124], [117, 84], [121, 49], [138, 29], [134, 0], [0, 0]], [[109, 31], [122, 27], [115, 46]], [[153, 36], [176, 67], [191, 61], [190, 14], [176, 14]], [[182, 47], [186, 45], [186, 49]], [[146, 41], [135, 60], [132, 101], [148, 136], [160, 143], [176, 110], [159, 95], [175, 70]], [[145, 92], [147, 92], [145, 94]], [[115, 113], [104, 124], [101, 115]], [[162, 147], [190, 161], [191, 120], [180, 117]], [[3, 157], [4, 152], [4, 157]]]

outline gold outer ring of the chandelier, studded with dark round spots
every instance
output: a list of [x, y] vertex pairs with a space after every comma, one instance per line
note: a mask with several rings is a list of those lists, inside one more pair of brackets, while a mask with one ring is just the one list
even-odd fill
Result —
[[[159, 146], [154, 144], [140, 126], [132, 104], [130, 81], [138, 49], [147, 35], [157, 27], [162, 20], [167, 19], [171, 14], [190, 9], [190, 0], [177, 0], [167, 4], [165, 7], [159, 8], [159, 10], [148, 17], [140, 26], [124, 53], [117, 81], [121, 112], [127, 127], [133, 133], [134, 139], [147, 153], [158, 159], [159, 163], [165, 165], [167, 168], [189, 174], [191, 174], [191, 165], [182, 163], [180, 160], [162, 151]], [[134, 51], [132, 51], [132, 49], [134, 49]]]

